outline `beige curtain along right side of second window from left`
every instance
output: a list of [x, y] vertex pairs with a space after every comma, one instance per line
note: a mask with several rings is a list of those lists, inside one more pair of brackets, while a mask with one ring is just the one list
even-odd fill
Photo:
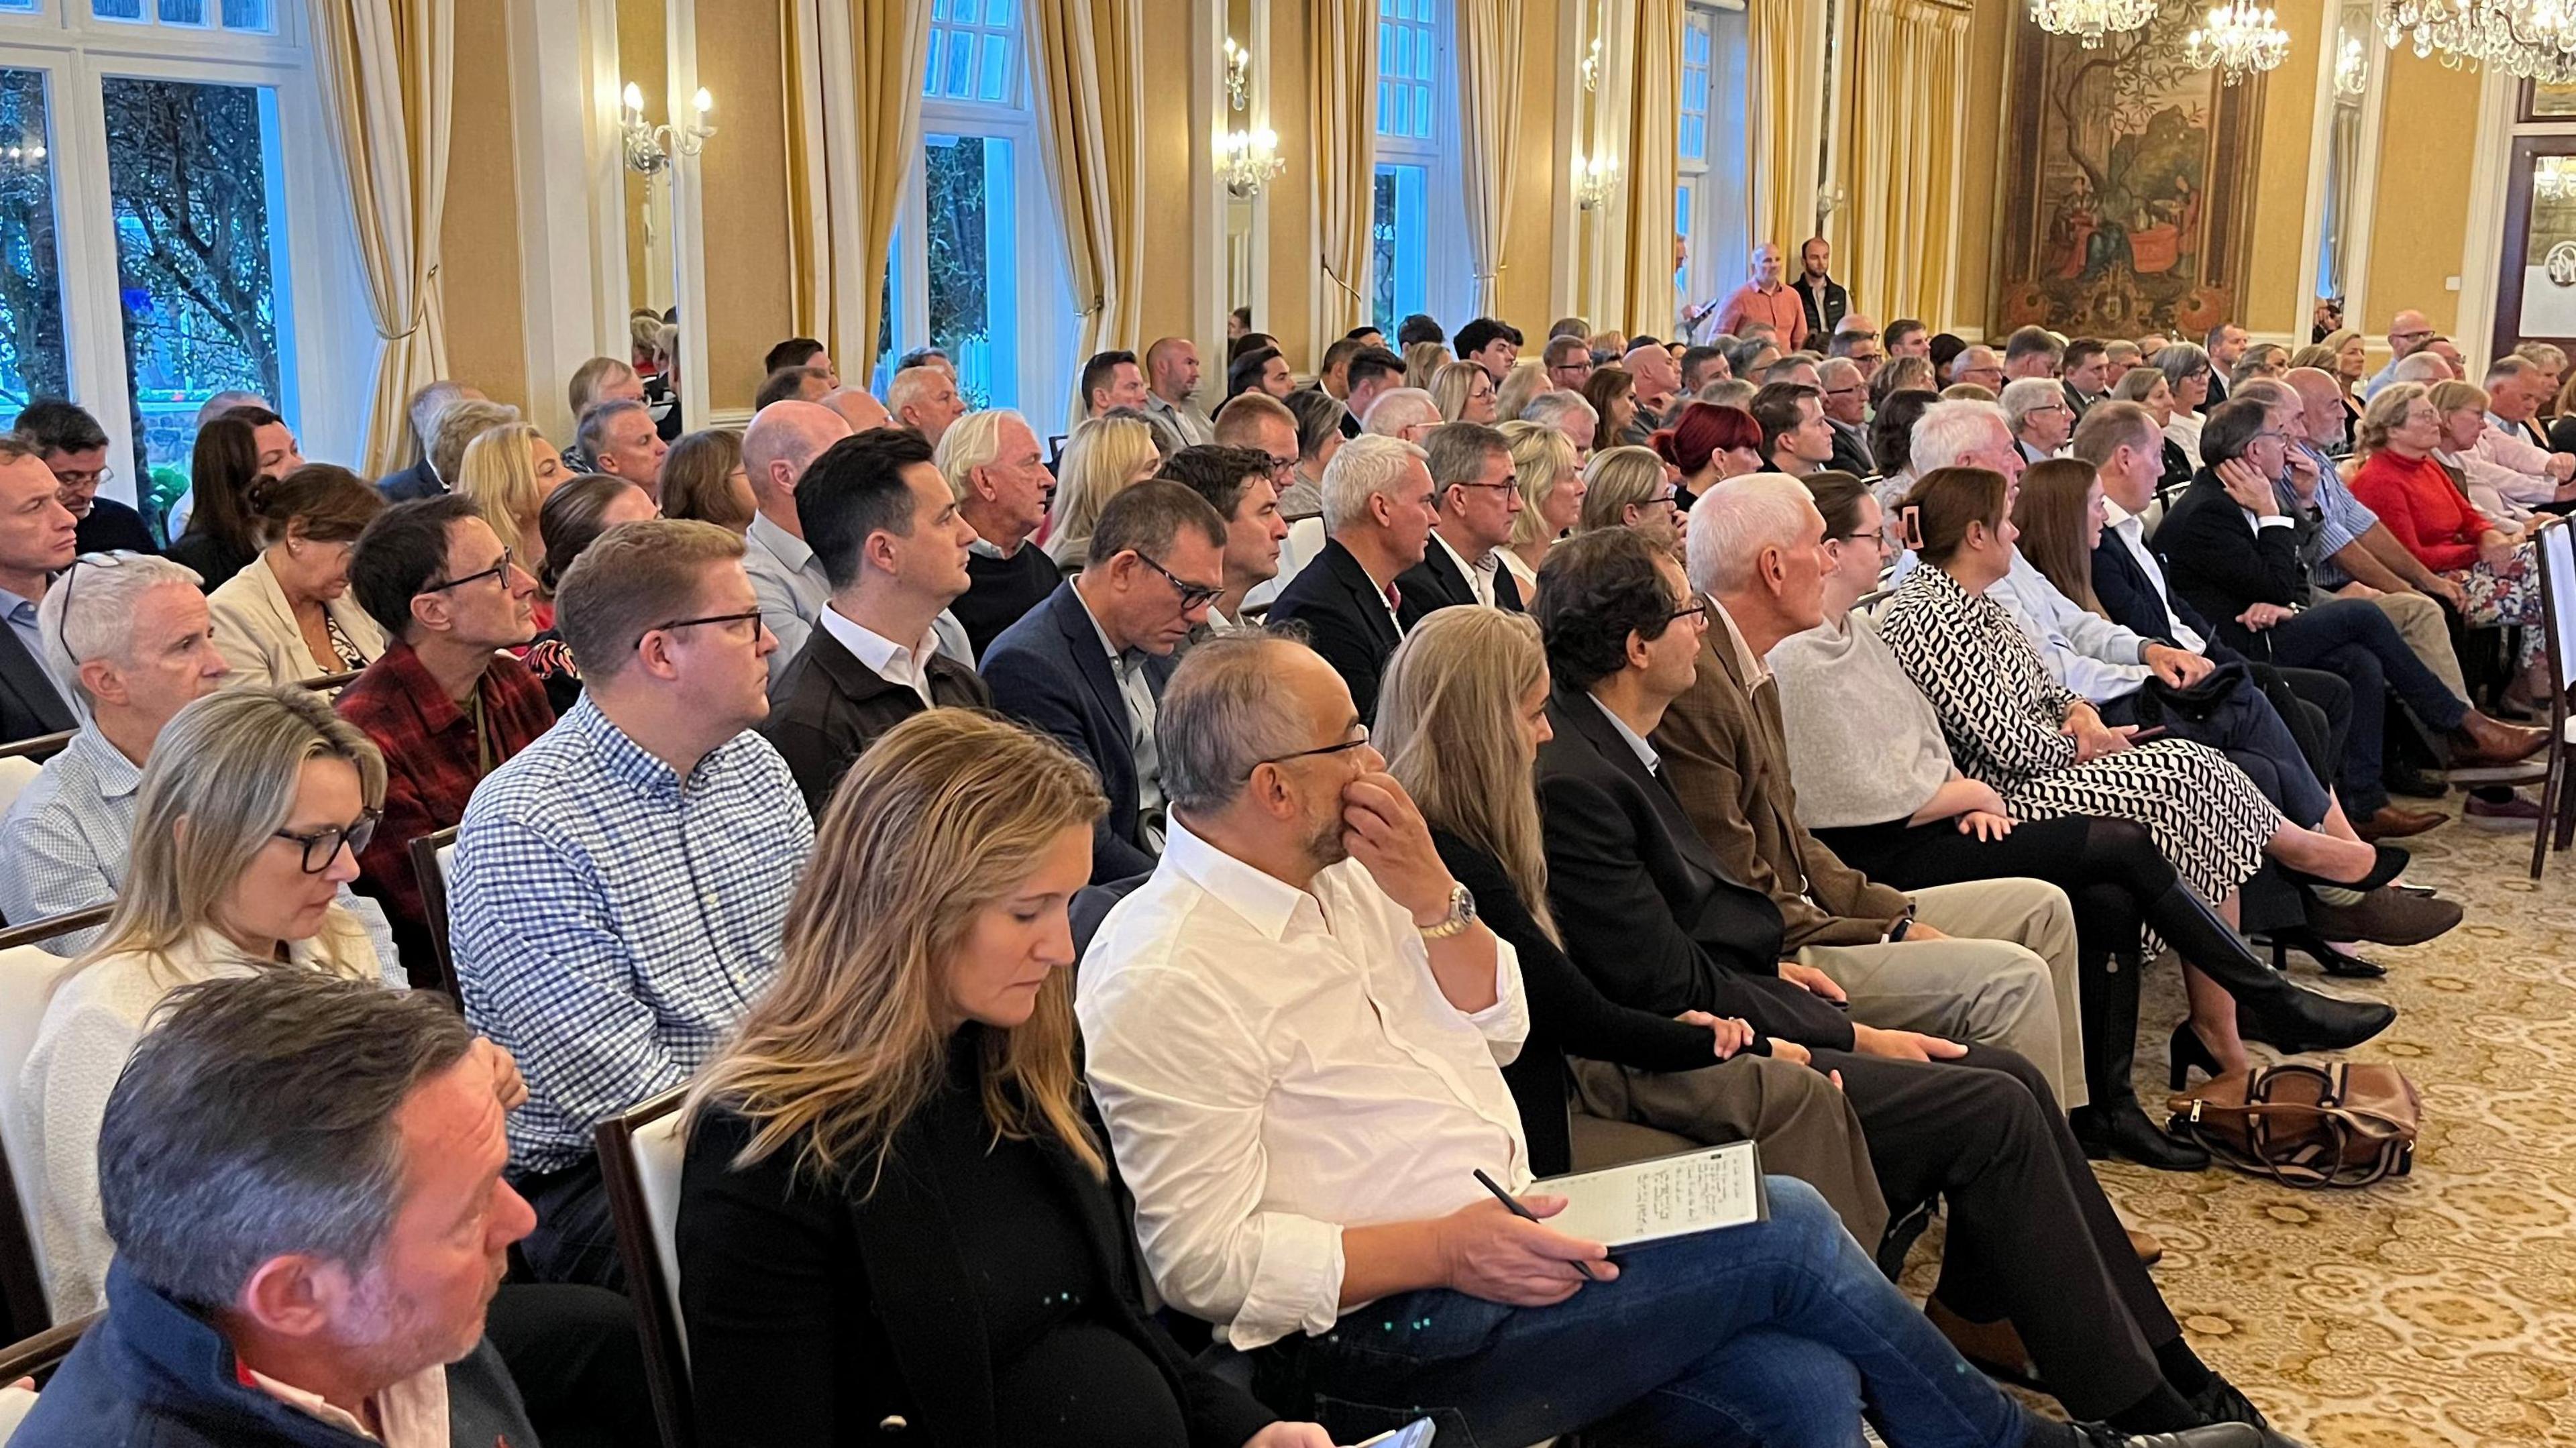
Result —
[[1082, 314], [1074, 356], [1144, 338], [1144, 3], [1028, 0], [1030, 67], [1064, 255]]

